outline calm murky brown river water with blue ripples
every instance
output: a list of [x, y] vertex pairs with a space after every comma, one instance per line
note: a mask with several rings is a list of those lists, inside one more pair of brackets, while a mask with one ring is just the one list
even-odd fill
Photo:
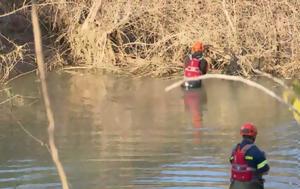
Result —
[[[95, 73], [48, 78], [71, 188], [228, 188], [228, 157], [245, 121], [257, 125], [257, 145], [269, 159], [265, 188], [300, 188], [300, 127], [285, 106], [257, 89], [211, 79], [200, 90], [165, 93], [176, 80]], [[0, 106], [0, 188], [61, 188], [47, 148], [32, 137], [47, 142], [39, 82], [28, 75], [10, 87], [1, 91], [3, 100], [4, 94], [24, 97]]]

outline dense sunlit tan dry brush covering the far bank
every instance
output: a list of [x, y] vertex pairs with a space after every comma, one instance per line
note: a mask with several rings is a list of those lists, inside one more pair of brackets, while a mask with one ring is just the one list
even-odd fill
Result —
[[[136, 75], [180, 73], [195, 40], [216, 70], [300, 71], [298, 0], [40, 0], [43, 24], [73, 65]], [[23, 6], [26, 6], [26, 2]]]

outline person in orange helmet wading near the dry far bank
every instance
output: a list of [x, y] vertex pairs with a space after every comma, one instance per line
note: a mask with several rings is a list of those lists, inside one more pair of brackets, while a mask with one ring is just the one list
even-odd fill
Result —
[[[192, 46], [192, 53], [188, 55], [185, 59], [185, 69], [184, 69], [184, 77], [194, 78], [199, 77], [201, 75], [206, 74], [208, 70], [208, 63], [204, 58], [203, 55], [204, 46], [201, 42], [197, 41]], [[183, 83], [182, 87], [189, 89], [189, 88], [196, 88], [201, 86], [201, 81], [186, 81]]]

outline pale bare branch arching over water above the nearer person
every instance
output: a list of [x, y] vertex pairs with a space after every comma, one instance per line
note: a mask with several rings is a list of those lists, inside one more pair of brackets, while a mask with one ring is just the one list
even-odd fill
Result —
[[206, 75], [203, 75], [203, 76], [195, 77], [195, 78], [192, 78], [192, 79], [184, 79], [184, 80], [178, 81], [176, 83], [173, 83], [172, 85], [169, 85], [168, 87], [166, 87], [165, 91], [168, 92], [168, 91], [180, 86], [184, 81], [197, 81], [197, 80], [205, 80], [205, 79], [225, 79], [225, 80], [239, 81], [239, 82], [245, 83], [245, 84], [247, 84], [251, 87], [254, 87], [254, 88], [257, 88], [257, 89], [263, 91], [264, 93], [268, 94], [272, 98], [275, 98], [280, 103], [282, 103], [282, 104], [286, 105], [287, 107], [289, 107], [293, 112], [296, 112], [298, 115], [300, 115], [300, 112], [297, 109], [295, 109], [289, 103], [285, 102], [281, 97], [276, 95], [273, 91], [267, 89], [266, 87], [264, 87], [264, 86], [262, 86], [258, 83], [255, 83], [254, 81], [244, 79], [244, 78], [239, 77], [239, 76], [230, 76], [230, 75], [223, 75], [223, 74], [206, 74]]

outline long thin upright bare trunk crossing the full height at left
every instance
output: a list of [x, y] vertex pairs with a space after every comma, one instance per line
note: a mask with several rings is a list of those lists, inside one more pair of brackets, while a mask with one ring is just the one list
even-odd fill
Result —
[[44, 104], [46, 108], [46, 114], [48, 118], [48, 135], [49, 135], [49, 145], [50, 145], [50, 152], [52, 156], [52, 160], [57, 168], [59, 178], [62, 182], [63, 189], [69, 189], [67, 177], [64, 171], [64, 168], [59, 160], [58, 150], [55, 145], [54, 139], [54, 129], [55, 129], [55, 121], [54, 115], [51, 108], [50, 98], [48, 94], [47, 82], [46, 82], [46, 74], [44, 68], [44, 57], [43, 57], [43, 50], [42, 50], [42, 38], [41, 38], [41, 31], [39, 26], [38, 14], [37, 14], [37, 7], [35, 0], [32, 0], [32, 26], [33, 26], [33, 34], [34, 34], [34, 44], [35, 44], [35, 53], [37, 57], [37, 64], [39, 70], [39, 78], [41, 80], [41, 88], [42, 88], [42, 95], [44, 99]]

